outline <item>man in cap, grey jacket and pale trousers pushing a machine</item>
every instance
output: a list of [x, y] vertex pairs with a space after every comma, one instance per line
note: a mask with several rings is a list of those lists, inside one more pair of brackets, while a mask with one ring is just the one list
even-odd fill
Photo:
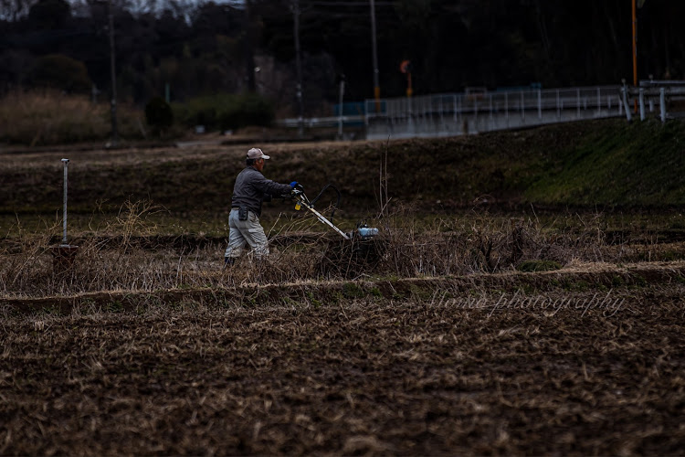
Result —
[[258, 259], [269, 255], [267, 235], [259, 224], [261, 204], [270, 201], [271, 197], [290, 195], [292, 188], [297, 185], [297, 181], [279, 184], [264, 177], [261, 172], [266, 160], [269, 160], [269, 155], [262, 153], [258, 147], [253, 147], [248, 151], [247, 166], [237, 175], [231, 199], [231, 213], [228, 216], [225, 265], [233, 265], [246, 245], [252, 248]]

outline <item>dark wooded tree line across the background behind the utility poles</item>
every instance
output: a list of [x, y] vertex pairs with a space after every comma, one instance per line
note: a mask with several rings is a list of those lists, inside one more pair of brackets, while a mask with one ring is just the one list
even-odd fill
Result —
[[[342, 77], [345, 100], [373, 98], [374, 41], [382, 97], [406, 93], [406, 60], [416, 95], [632, 81], [631, 0], [375, 0], [375, 37], [368, 0], [0, 0], [0, 93], [106, 100], [110, 7], [117, 91], [139, 105], [257, 91], [295, 114], [296, 33], [306, 115], [330, 111]], [[681, 0], [638, 9], [640, 79], [683, 78], [684, 15]]]

